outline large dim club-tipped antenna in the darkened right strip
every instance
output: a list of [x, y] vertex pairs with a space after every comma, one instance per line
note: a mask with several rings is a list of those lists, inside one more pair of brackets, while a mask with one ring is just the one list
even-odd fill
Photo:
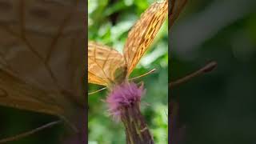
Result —
[[177, 81], [170, 82], [169, 87], [178, 86], [181, 83], [189, 81], [191, 78], [195, 78], [199, 75], [209, 73], [210, 71], [214, 70], [216, 66], [217, 62], [210, 62], [206, 66], [202, 67], [200, 70], [197, 70], [192, 74], [186, 75], [184, 78], [180, 78]]

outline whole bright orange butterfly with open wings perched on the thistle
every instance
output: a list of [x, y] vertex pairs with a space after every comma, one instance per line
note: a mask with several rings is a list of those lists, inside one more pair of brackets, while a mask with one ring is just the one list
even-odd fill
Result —
[[97, 42], [88, 43], [88, 82], [113, 86], [128, 81], [168, 14], [168, 1], [154, 2], [128, 34], [123, 54]]

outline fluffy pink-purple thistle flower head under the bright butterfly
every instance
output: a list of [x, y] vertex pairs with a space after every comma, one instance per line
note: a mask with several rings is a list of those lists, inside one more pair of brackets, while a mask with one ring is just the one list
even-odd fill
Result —
[[137, 86], [134, 82], [114, 86], [106, 98], [110, 114], [119, 120], [122, 108], [141, 102], [144, 92], [143, 86]]

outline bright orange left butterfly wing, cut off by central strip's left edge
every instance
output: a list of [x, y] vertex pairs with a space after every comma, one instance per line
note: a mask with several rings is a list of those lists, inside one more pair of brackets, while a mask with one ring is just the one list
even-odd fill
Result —
[[107, 86], [114, 82], [114, 72], [124, 65], [118, 51], [96, 42], [88, 43], [88, 82]]

